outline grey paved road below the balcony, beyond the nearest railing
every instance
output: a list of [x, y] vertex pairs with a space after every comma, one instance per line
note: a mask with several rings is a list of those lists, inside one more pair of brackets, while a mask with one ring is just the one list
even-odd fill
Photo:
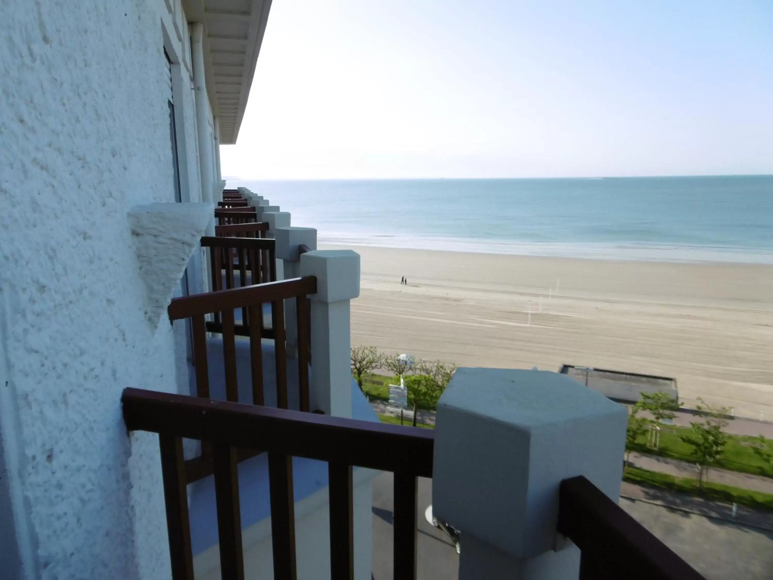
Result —
[[[432, 480], [419, 479], [417, 577], [456, 580], [459, 557], [448, 538], [424, 519], [431, 503]], [[652, 534], [693, 565], [708, 580], [770, 580], [773, 578], [773, 514], [730, 508], [679, 493], [623, 483], [620, 506]], [[373, 578], [393, 578], [393, 478], [383, 473], [373, 480]], [[464, 538], [462, 538], [462, 550]]]

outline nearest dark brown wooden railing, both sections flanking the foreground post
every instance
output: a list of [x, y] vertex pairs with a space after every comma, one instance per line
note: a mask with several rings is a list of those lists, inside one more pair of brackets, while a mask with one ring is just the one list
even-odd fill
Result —
[[[352, 466], [394, 473], [394, 578], [416, 578], [417, 477], [431, 477], [434, 432], [126, 389], [131, 431], [159, 435], [172, 578], [192, 578], [182, 438], [213, 445], [223, 578], [243, 578], [237, 463], [268, 453], [274, 578], [295, 578], [291, 458], [329, 464], [332, 578], [352, 578]], [[249, 450], [249, 453], [244, 453]], [[558, 531], [581, 549], [581, 580], [702, 580], [584, 477], [560, 484]], [[464, 553], [464, 531], [461, 532]]]

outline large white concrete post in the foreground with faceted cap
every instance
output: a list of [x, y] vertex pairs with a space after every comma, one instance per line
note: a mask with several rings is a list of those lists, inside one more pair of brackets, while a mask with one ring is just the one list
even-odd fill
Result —
[[559, 484], [585, 476], [617, 501], [627, 421], [563, 374], [457, 370], [438, 404], [432, 511], [461, 533], [460, 580], [576, 580]]

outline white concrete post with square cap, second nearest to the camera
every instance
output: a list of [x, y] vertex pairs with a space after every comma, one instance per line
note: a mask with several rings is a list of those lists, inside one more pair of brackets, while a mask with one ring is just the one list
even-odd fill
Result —
[[312, 299], [312, 409], [352, 416], [349, 301], [359, 296], [359, 254], [351, 250], [301, 254], [301, 276], [317, 278]]

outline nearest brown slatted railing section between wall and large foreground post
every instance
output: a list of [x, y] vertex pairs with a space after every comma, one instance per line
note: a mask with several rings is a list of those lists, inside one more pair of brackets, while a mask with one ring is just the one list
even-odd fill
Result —
[[138, 389], [122, 403], [130, 431], [158, 433], [174, 580], [193, 580], [182, 438], [213, 448], [222, 578], [244, 577], [240, 449], [268, 453], [276, 580], [295, 578], [294, 456], [328, 462], [331, 577], [354, 577], [352, 466], [362, 466], [394, 473], [394, 577], [416, 578], [417, 477], [432, 476], [433, 432]]

